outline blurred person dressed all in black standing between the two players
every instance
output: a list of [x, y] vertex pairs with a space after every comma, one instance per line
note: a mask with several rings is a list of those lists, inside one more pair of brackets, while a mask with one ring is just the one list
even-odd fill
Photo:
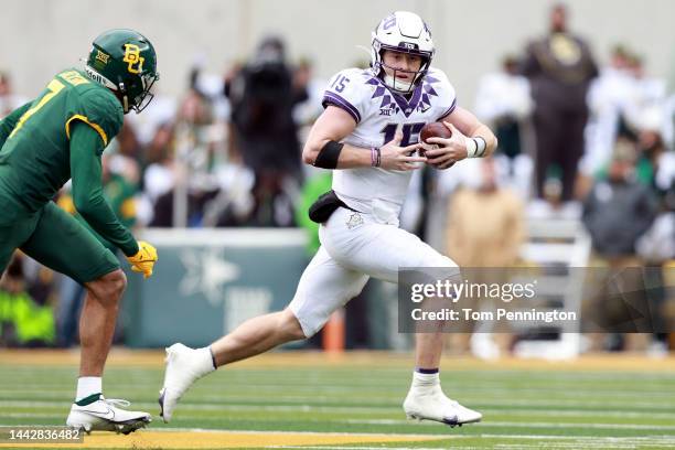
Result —
[[262, 40], [253, 60], [226, 85], [226, 93], [235, 147], [255, 174], [249, 224], [290, 226], [292, 199], [302, 179], [293, 107], [308, 94], [306, 83], [293, 84], [283, 42], [276, 36]]

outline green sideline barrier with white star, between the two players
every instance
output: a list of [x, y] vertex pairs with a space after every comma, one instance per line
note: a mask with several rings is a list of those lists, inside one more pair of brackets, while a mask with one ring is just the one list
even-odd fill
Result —
[[206, 345], [246, 319], [283, 309], [308, 264], [301, 229], [146, 229], [160, 259], [129, 275], [125, 343]]

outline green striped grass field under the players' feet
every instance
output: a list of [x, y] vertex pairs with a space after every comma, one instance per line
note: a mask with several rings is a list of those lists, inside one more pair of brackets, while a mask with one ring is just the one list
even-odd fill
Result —
[[[62, 425], [76, 361], [73, 353], [0, 353], [0, 425]], [[106, 396], [157, 415], [161, 361], [159, 352], [113, 354]], [[484, 415], [481, 424], [452, 429], [405, 419], [400, 404], [410, 363], [409, 355], [386, 353], [340, 358], [277, 353], [202, 379], [170, 425], [156, 416], [148, 430], [130, 437], [94, 436], [71, 447], [675, 448], [674, 360], [488, 364], [449, 358], [444, 390]]]

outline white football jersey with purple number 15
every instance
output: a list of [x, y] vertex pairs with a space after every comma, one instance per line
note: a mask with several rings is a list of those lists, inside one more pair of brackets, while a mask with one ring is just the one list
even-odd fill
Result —
[[[338, 106], [356, 120], [345, 143], [371, 151], [403, 132], [401, 147], [419, 141], [419, 132], [454, 110], [454, 88], [442, 71], [431, 67], [408, 100], [390, 90], [371, 69], [347, 68], [329, 82], [323, 106]], [[397, 217], [400, 213], [411, 171], [382, 168], [333, 171], [333, 190], [350, 207], [363, 213]]]

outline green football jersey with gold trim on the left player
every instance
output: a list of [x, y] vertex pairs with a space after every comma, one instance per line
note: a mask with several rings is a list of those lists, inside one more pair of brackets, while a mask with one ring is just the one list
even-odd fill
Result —
[[121, 104], [109, 89], [77, 69], [56, 75], [21, 116], [0, 149], [0, 197], [33, 213], [71, 179], [69, 133], [88, 124], [104, 146], [119, 132]]

